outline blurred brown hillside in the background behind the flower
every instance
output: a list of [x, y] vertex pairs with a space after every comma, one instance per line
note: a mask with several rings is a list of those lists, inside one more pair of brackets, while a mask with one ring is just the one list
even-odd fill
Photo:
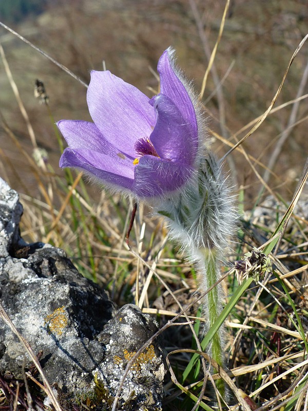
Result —
[[[84, 82], [91, 69], [107, 69], [140, 88], [151, 97], [158, 82], [154, 71], [161, 53], [176, 49], [178, 64], [196, 90], [201, 89], [211, 50], [225, 7], [224, 0], [2, 0], [0, 20], [25, 36], [51, 57], [67, 66]], [[262, 115], [277, 91], [294, 50], [308, 29], [306, 0], [233, 0], [203, 102], [207, 125], [224, 139], [235, 143], [249, 128], [234, 136], [247, 123]], [[33, 126], [37, 144], [45, 148], [48, 161], [59, 175], [60, 149], [45, 105], [34, 98], [36, 79], [44, 82], [55, 121], [90, 120], [86, 88], [40, 53], [0, 28], [12, 76]], [[308, 92], [303, 77], [308, 62], [305, 44], [287, 75], [275, 105]], [[271, 188], [292, 197], [308, 152], [307, 104], [303, 99], [296, 113], [287, 105], [269, 115], [244, 144], [248, 155], [264, 166], [271, 161], [281, 134], [295, 126], [281, 144], [271, 167]], [[37, 183], [28, 161], [18, 152], [4, 124], [32, 155], [32, 144], [12, 88], [0, 60], [0, 176], [12, 188], [35, 197]], [[295, 117], [294, 117], [295, 116]], [[212, 138], [220, 156], [229, 150]], [[281, 140], [280, 140], [281, 142]], [[254, 163], [254, 159], [252, 160]], [[260, 175], [264, 169], [256, 165]], [[237, 187], [245, 186], [245, 208], [251, 207], [261, 188], [251, 166], [240, 152], [228, 158], [228, 168]]]

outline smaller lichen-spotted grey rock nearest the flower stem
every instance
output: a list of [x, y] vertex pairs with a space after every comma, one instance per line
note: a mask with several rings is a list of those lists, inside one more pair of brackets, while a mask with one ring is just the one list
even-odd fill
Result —
[[[149, 315], [134, 305], [122, 307], [99, 334], [98, 340], [106, 349], [106, 355], [93, 375], [114, 397], [128, 361], [158, 330]], [[157, 340], [151, 342], [131, 366], [121, 391], [120, 410], [161, 409], [165, 367], [163, 352]]]

